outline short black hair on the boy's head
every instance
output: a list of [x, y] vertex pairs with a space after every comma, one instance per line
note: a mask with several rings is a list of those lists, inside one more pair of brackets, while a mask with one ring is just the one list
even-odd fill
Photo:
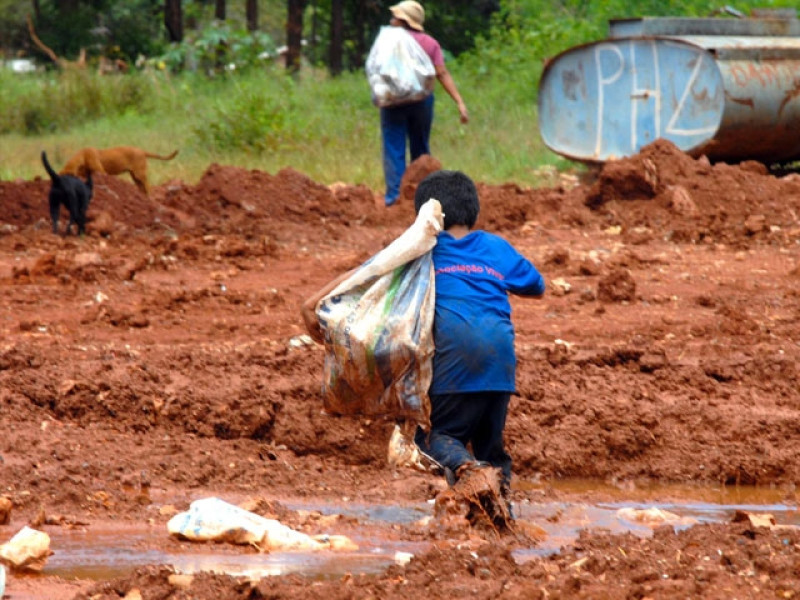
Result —
[[472, 229], [478, 220], [481, 210], [478, 190], [461, 171], [436, 171], [423, 179], [414, 194], [414, 210], [419, 212], [431, 198], [436, 198], [442, 205], [445, 229], [453, 225], [466, 225]]

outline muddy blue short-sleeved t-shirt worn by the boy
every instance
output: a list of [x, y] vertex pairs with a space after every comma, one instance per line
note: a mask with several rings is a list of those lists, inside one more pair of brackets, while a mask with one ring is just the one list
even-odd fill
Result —
[[540, 296], [544, 279], [503, 238], [446, 231], [433, 248], [436, 314], [431, 394], [516, 392], [508, 294]]

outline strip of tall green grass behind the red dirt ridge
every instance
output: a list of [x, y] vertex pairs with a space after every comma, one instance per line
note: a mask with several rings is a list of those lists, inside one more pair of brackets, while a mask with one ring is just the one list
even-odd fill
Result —
[[[504, 93], [485, 74], [459, 71], [455, 62], [451, 71], [471, 119], [462, 125], [437, 87], [431, 149], [446, 168], [487, 183], [535, 185], [538, 166], [563, 165], [540, 140], [532, 93]], [[42, 150], [59, 168], [84, 146], [136, 145], [158, 153], [180, 149], [174, 161], [151, 161], [154, 184], [196, 183], [216, 162], [270, 173], [292, 167], [325, 184], [383, 185], [378, 109], [360, 72], [332, 79], [306, 69], [299, 80], [277, 67], [216, 79], [163, 72], [3, 75], [0, 90], [0, 100], [16, 107], [0, 117], [4, 180], [43, 175]], [[44, 126], [30, 128], [20, 116], [20, 107], [32, 106]]]

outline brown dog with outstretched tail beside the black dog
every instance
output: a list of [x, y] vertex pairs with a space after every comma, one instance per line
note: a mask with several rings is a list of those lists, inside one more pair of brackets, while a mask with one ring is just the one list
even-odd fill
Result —
[[116, 148], [84, 148], [67, 161], [59, 172], [61, 175], [86, 177], [89, 173], [106, 173], [119, 175], [130, 173], [133, 182], [145, 195], [150, 195], [150, 184], [147, 182], [147, 159], [172, 160], [177, 156], [175, 150], [167, 156], [160, 156], [135, 146], [117, 146]]

